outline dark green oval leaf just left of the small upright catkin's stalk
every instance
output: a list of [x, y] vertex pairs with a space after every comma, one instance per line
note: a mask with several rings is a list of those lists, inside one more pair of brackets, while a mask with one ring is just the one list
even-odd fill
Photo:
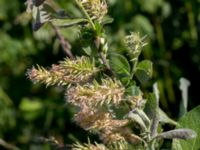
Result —
[[110, 54], [110, 66], [122, 82], [130, 80], [131, 67], [128, 60], [123, 55], [117, 53]]

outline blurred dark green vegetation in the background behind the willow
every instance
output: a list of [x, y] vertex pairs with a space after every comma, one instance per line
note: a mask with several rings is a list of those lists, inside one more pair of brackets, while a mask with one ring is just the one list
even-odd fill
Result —
[[[78, 10], [72, 0], [56, 0], [69, 15]], [[106, 27], [112, 50], [123, 53], [123, 37], [131, 31], [148, 36], [142, 57], [154, 63], [154, 76], [144, 85], [151, 90], [159, 83], [161, 107], [178, 118], [181, 92], [179, 79], [187, 78], [189, 109], [199, 101], [200, 85], [200, 1], [199, 0], [108, 0], [114, 22]], [[24, 1], [0, 1], [0, 139], [21, 149], [48, 149], [41, 137], [55, 137], [60, 143], [87, 141], [85, 132], [72, 121], [64, 101], [65, 88], [31, 83], [26, 72], [35, 64], [50, 66], [62, 60], [63, 52], [55, 32], [47, 25], [32, 31]], [[62, 29], [75, 54], [81, 54], [77, 29]], [[80, 134], [82, 133], [82, 134]], [[95, 137], [94, 137], [95, 138]], [[0, 149], [4, 149], [0, 142]]]

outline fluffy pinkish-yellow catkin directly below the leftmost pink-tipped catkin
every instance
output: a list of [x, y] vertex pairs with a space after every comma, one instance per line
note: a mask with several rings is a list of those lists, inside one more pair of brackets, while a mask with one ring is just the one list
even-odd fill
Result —
[[97, 106], [103, 104], [118, 105], [124, 96], [125, 89], [121, 82], [112, 79], [103, 79], [99, 84], [77, 85], [67, 90], [67, 101], [75, 106]]

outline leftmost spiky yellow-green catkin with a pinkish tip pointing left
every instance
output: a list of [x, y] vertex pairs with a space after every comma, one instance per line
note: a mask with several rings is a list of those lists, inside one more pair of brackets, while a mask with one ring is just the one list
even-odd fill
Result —
[[87, 82], [97, 71], [94, 62], [89, 58], [77, 57], [75, 60], [60, 61], [58, 65], [52, 65], [49, 70], [37, 65], [28, 70], [27, 75], [35, 83], [60, 86]]

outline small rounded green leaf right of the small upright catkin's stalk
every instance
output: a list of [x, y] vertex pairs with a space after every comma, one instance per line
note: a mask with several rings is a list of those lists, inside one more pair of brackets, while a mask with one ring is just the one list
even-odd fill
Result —
[[136, 77], [141, 83], [145, 83], [152, 77], [153, 65], [149, 60], [143, 60], [136, 67]]

